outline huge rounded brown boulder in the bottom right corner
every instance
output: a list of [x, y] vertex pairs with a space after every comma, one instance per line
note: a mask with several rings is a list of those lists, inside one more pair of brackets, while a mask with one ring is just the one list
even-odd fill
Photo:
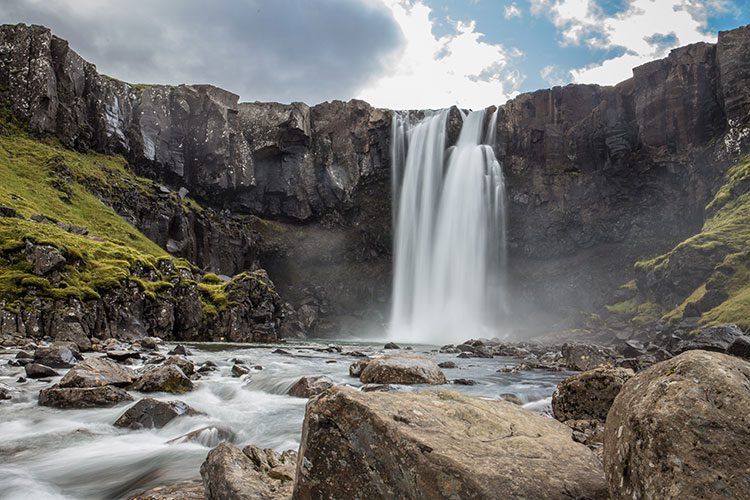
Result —
[[607, 416], [614, 499], [747, 498], [750, 363], [691, 350], [638, 373]]

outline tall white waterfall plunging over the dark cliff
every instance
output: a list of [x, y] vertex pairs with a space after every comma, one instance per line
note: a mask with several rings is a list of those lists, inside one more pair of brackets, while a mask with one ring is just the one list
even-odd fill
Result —
[[464, 116], [448, 149], [447, 121], [447, 110], [414, 125], [394, 116], [393, 339], [434, 344], [502, 334], [505, 187], [491, 146], [497, 112], [486, 131], [484, 111]]

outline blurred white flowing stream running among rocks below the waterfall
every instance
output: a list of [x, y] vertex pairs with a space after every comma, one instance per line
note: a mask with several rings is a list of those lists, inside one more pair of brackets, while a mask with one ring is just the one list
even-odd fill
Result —
[[[327, 352], [326, 344], [314, 342], [283, 346], [191, 345], [189, 357], [197, 366], [213, 361], [218, 370], [195, 382], [195, 390], [183, 395], [139, 394], [134, 400], [154, 397], [181, 400], [204, 413], [179, 417], [162, 429], [132, 431], [112, 423], [133, 402], [113, 408], [60, 410], [37, 404], [39, 390], [59, 380], [18, 382], [23, 368], [11, 366], [12, 351], [0, 352], [0, 382], [11, 387], [13, 398], [0, 401], [0, 498], [3, 499], [100, 499], [127, 498], [153, 486], [200, 479], [200, 465], [218, 443], [218, 430], [231, 433], [239, 446], [254, 444], [277, 451], [299, 446], [305, 399], [286, 395], [304, 375], [327, 375], [335, 382], [360, 386], [348, 369], [357, 350], [369, 355], [382, 353], [382, 344], [342, 343], [342, 352]], [[281, 347], [289, 354], [273, 351]], [[164, 354], [167, 347], [161, 348]], [[389, 351], [394, 352], [394, 351]], [[436, 361], [452, 360], [458, 367], [445, 370], [449, 379], [467, 378], [473, 386], [451, 385], [439, 389], [498, 399], [501, 394], [518, 395], [525, 406], [544, 411], [549, 406], [562, 372], [527, 371], [498, 373], [512, 366], [510, 358], [457, 359], [455, 354], [438, 353], [436, 348], [414, 345], [414, 353]], [[101, 356], [101, 354], [87, 354]], [[233, 359], [248, 366], [262, 366], [249, 376], [231, 376]], [[133, 368], [142, 366], [137, 361]], [[59, 370], [64, 374], [65, 370]], [[431, 386], [402, 386], [400, 390], [435, 389]], [[213, 428], [197, 441], [170, 443], [188, 432]]]

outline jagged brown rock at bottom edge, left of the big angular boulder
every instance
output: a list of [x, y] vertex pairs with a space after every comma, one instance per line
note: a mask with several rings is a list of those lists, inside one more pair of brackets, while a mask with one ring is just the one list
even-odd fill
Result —
[[221, 443], [201, 465], [207, 500], [288, 499], [294, 480], [294, 455]]

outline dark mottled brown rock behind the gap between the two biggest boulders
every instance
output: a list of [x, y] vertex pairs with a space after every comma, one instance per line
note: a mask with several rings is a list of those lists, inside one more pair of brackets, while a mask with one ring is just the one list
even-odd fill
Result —
[[604, 422], [615, 397], [632, 376], [633, 371], [627, 368], [599, 367], [568, 377], [552, 395], [552, 412], [561, 422]]

